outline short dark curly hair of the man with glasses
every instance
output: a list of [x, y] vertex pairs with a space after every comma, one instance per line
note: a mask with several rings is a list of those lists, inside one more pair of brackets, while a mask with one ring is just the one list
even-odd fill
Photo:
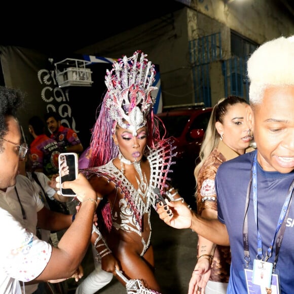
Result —
[[[6, 117], [16, 117], [18, 109], [23, 105], [24, 93], [0, 86], [0, 138], [3, 138], [8, 132]], [[2, 147], [2, 142], [0, 142], [0, 147]]]

